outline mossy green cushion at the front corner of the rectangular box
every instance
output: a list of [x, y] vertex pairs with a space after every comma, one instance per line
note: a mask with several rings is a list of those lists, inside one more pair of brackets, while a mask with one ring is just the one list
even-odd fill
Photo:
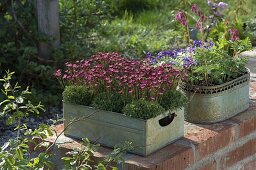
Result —
[[123, 109], [125, 115], [145, 120], [156, 117], [164, 111], [165, 109], [157, 102], [146, 101], [144, 99], [133, 101]]

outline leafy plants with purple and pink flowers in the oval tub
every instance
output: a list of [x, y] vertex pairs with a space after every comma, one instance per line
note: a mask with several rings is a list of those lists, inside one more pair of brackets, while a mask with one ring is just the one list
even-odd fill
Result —
[[[239, 54], [251, 49], [250, 39], [240, 36], [239, 25], [225, 15], [228, 4], [208, 0], [208, 7], [209, 11], [203, 12], [192, 4], [191, 12], [178, 11], [176, 20], [185, 30], [187, 47], [163, 51], [151, 57], [157, 65], [179, 58], [193, 66], [188, 78], [188, 83], [192, 85], [219, 85], [247, 73], [247, 59], [239, 57]], [[191, 39], [191, 27], [197, 29], [197, 40]]]

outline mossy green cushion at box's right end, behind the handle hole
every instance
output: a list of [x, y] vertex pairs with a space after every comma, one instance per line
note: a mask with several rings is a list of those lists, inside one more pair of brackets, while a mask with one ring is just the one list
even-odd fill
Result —
[[170, 90], [160, 97], [158, 103], [165, 110], [174, 110], [183, 107], [187, 103], [187, 97], [181, 91]]

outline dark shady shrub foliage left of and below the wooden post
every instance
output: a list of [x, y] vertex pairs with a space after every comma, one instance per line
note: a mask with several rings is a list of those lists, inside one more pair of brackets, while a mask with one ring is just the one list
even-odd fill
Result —
[[0, 1], [0, 75], [5, 74], [4, 70], [14, 71], [13, 79], [33, 91], [31, 101], [57, 105], [61, 92], [52, 74], [63, 58], [38, 56], [38, 42], [48, 40], [37, 31], [34, 7], [31, 0]]

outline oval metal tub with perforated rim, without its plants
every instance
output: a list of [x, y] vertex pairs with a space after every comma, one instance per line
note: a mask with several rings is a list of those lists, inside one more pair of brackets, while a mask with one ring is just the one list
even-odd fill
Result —
[[184, 85], [189, 103], [185, 120], [192, 123], [216, 123], [235, 116], [249, 107], [250, 73], [218, 86]]

